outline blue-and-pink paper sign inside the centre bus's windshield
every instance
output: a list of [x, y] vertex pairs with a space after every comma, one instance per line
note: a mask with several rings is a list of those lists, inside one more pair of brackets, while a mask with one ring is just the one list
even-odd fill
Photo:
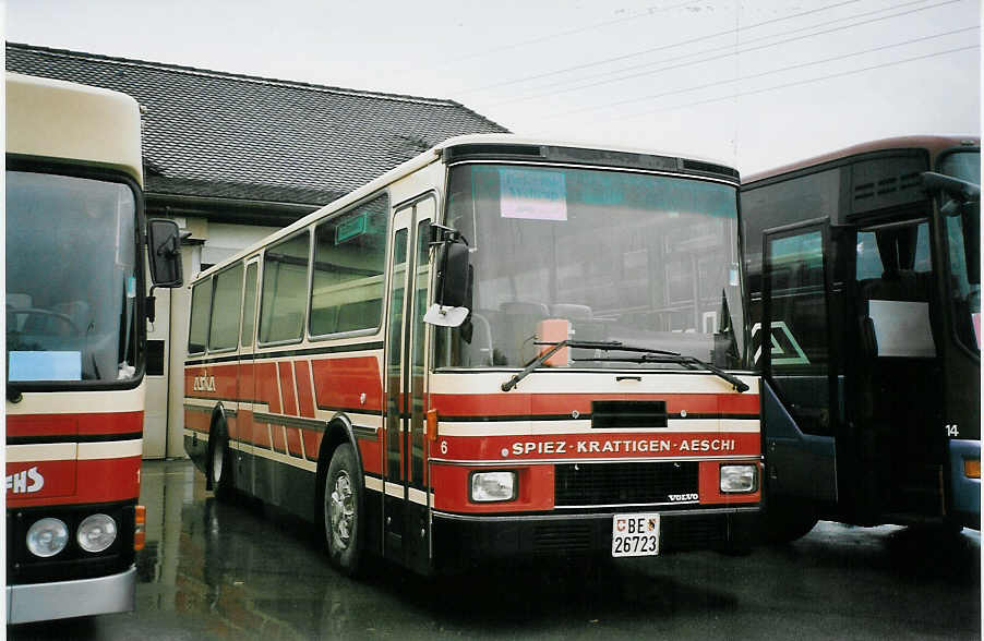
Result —
[[503, 218], [567, 220], [567, 184], [559, 171], [500, 169]]

